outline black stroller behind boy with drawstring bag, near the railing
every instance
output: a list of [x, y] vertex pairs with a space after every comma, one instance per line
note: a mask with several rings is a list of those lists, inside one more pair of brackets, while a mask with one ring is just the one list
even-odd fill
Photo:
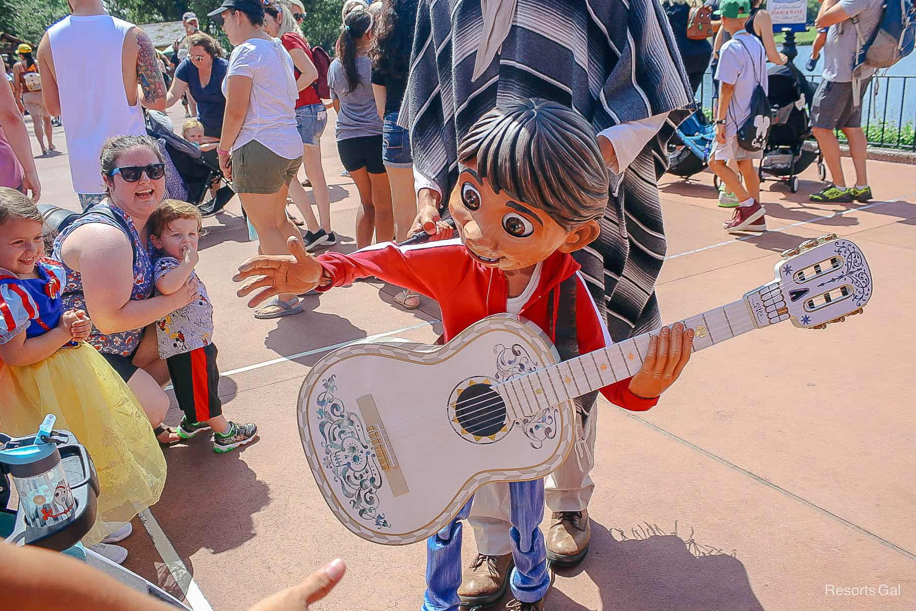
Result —
[[818, 176], [824, 180], [827, 169], [816, 144], [805, 146], [812, 136], [811, 103], [813, 92], [802, 73], [791, 63], [769, 69], [769, 104], [773, 109], [767, 146], [760, 162], [760, 182], [764, 174], [785, 180], [789, 191], [799, 190], [798, 174], [817, 160]]

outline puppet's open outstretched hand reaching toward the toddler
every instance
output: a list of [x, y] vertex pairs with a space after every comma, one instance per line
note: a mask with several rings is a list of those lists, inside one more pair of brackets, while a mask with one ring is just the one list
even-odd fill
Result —
[[295, 237], [287, 240], [287, 247], [290, 255], [252, 256], [238, 267], [238, 273], [232, 278], [234, 282], [251, 278], [238, 289], [239, 297], [266, 287], [248, 300], [249, 308], [274, 295], [298, 295], [318, 286], [322, 279], [322, 264], [305, 252], [305, 246]]

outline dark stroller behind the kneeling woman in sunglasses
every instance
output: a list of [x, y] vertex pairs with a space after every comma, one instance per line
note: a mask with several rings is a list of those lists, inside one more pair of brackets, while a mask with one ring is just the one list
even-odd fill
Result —
[[[168, 117], [147, 113], [147, 135], [155, 138], [166, 157], [166, 191], [171, 199], [190, 202], [203, 216], [218, 213], [235, 192], [225, 180], [215, 154], [203, 153], [198, 147], [175, 135]], [[223, 182], [214, 197], [211, 186]]]

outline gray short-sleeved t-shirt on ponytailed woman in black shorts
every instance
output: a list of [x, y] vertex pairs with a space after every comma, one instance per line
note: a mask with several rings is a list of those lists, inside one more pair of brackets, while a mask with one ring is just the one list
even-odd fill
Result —
[[338, 140], [380, 136], [382, 133], [382, 120], [378, 117], [376, 97], [372, 93], [372, 62], [369, 58], [356, 58], [356, 68], [359, 70], [359, 84], [349, 93], [341, 60], [333, 60], [328, 68], [331, 99], [341, 101], [334, 132]]

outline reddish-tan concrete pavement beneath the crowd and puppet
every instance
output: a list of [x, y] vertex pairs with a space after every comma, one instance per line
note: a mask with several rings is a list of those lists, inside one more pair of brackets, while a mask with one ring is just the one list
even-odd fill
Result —
[[[173, 111], [180, 125], [180, 106]], [[340, 176], [332, 125], [322, 150], [343, 238], [335, 249], [346, 252], [359, 202]], [[42, 202], [76, 209], [66, 159], [38, 159]], [[773, 278], [782, 249], [827, 233], [862, 247], [874, 297], [864, 315], [826, 331], [785, 323], [695, 355], [649, 412], [603, 403], [592, 551], [558, 574], [548, 608], [916, 609], [916, 173], [868, 168], [881, 200], [867, 205], [805, 202], [821, 188], [814, 168], [794, 195], [767, 182], [770, 231], [739, 239], [721, 229], [728, 213], [715, 205], [712, 175], [661, 181], [666, 321], [738, 299]], [[416, 609], [423, 546], [368, 543], [333, 518], [302, 454], [295, 405], [329, 346], [376, 333], [429, 342], [441, 331], [438, 309], [424, 298], [420, 310], [402, 311], [391, 299], [397, 288], [357, 283], [305, 298], [298, 316], [257, 321], [230, 281], [256, 244], [237, 201], [227, 211], [206, 222], [198, 273], [215, 306], [226, 416], [255, 421], [260, 440], [225, 455], [202, 440], [167, 449], [169, 481], [151, 507], [167, 541], [135, 520], [126, 565], [178, 595], [189, 586], [183, 566], [199, 588], [189, 596], [195, 609], [229, 610], [339, 556], [349, 565], [344, 582], [312, 608]], [[173, 406], [169, 422], [179, 420]]]

